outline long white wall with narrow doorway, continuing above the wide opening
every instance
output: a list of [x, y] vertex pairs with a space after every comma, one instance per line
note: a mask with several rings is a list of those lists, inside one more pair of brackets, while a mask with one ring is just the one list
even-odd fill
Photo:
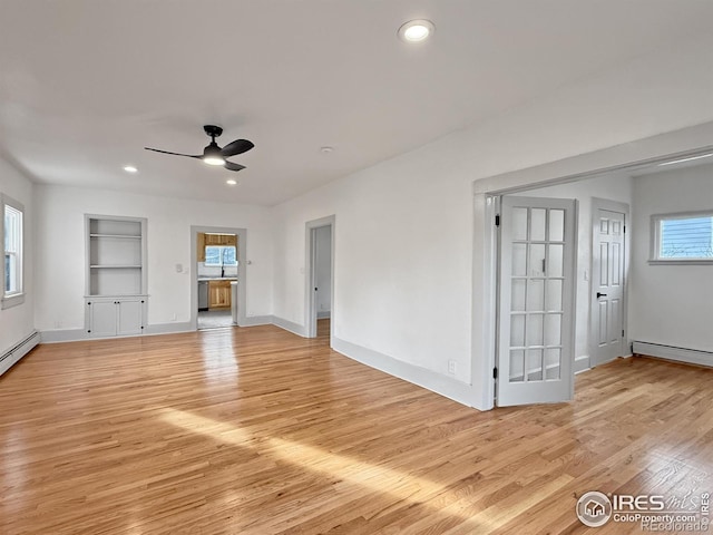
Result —
[[[472, 182], [712, 120], [713, 71], [700, 67], [712, 46], [704, 36], [639, 57], [277, 206], [275, 315], [304, 323], [304, 225], [335, 214], [339, 347], [489, 408], [490, 223]], [[529, 181], [502, 187], [517, 179]]]

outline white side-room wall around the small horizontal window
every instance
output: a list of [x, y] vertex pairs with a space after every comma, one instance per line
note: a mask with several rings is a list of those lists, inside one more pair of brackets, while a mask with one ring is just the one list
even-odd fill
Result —
[[651, 265], [651, 216], [713, 210], [713, 165], [634, 178], [634, 340], [713, 351], [713, 265]]

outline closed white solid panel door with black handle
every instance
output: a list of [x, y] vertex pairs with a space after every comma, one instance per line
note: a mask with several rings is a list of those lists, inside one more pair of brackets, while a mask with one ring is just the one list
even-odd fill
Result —
[[595, 207], [592, 233], [592, 366], [624, 348], [625, 213]]

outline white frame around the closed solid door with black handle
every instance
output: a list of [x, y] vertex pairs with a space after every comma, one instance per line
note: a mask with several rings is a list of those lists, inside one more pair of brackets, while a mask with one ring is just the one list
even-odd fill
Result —
[[592, 252], [589, 254], [590, 264], [589, 264], [589, 368], [594, 368], [597, 366], [597, 362], [594, 361], [594, 354], [596, 349], [596, 340], [595, 340], [595, 331], [594, 331], [594, 318], [597, 311], [597, 300], [594, 298], [594, 227], [598, 225], [597, 213], [599, 210], [607, 210], [609, 212], [616, 212], [619, 214], [624, 214], [624, 274], [623, 274], [623, 288], [622, 288], [622, 329], [624, 329], [624, 335], [622, 337], [622, 357], [631, 354], [628, 350], [628, 268], [629, 268], [629, 252], [631, 252], [631, 243], [629, 236], [631, 232], [628, 232], [627, 226], [631, 222], [629, 216], [629, 205], [626, 203], [622, 203], [618, 201], [609, 201], [607, 198], [592, 197], [592, 222], [589, 226], [590, 242], [592, 242]]

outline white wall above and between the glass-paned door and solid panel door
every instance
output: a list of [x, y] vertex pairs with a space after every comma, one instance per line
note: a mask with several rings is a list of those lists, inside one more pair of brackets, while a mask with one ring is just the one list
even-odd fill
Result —
[[[592, 198], [605, 198], [632, 206], [632, 178], [622, 173], [609, 173], [569, 184], [547, 186], [522, 192], [533, 197], [576, 198], [577, 220], [577, 309], [575, 324], [575, 359], [589, 367], [589, 321], [592, 307]], [[631, 212], [629, 212], [631, 215]], [[627, 223], [627, 232], [634, 228]]]

